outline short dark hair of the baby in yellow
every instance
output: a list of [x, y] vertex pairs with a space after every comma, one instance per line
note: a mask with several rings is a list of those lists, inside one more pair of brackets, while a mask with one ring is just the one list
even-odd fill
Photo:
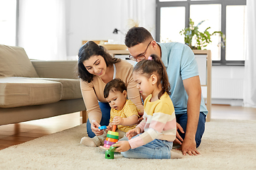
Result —
[[124, 84], [122, 79], [112, 79], [108, 82], [104, 89], [104, 98], [107, 98], [110, 95], [110, 91], [127, 91], [127, 86]]

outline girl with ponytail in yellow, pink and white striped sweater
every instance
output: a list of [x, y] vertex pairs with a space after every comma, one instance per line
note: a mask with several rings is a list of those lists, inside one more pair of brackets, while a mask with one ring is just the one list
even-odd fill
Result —
[[113, 145], [127, 158], [170, 159], [182, 154], [171, 151], [176, 138], [176, 118], [170, 84], [161, 59], [151, 55], [134, 67], [132, 74], [144, 101], [143, 120], [127, 132], [128, 141]]

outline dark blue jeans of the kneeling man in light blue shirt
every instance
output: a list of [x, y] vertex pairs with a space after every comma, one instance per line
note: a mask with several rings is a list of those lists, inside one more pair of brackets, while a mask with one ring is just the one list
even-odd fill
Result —
[[[188, 114], [177, 114], [176, 115], [176, 122], [181, 125], [185, 133], [182, 133], [180, 130], [178, 130], [178, 134], [181, 135], [182, 139], [185, 138], [186, 134], [186, 125], [188, 122]], [[205, 125], [206, 125], [206, 115], [201, 112], [199, 115], [199, 120], [198, 120], [198, 128], [196, 130], [196, 147], [199, 147], [201, 144], [201, 139], [203, 137], [203, 132], [205, 130]]]

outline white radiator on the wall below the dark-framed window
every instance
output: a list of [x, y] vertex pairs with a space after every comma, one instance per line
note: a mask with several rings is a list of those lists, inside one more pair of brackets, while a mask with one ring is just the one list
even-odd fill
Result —
[[243, 79], [212, 79], [212, 98], [242, 99]]

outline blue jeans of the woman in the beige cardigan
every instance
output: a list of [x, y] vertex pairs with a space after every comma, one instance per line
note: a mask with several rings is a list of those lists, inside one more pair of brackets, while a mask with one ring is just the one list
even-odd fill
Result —
[[[102, 103], [102, 102], [99, 102], [99, 105], [100, 105], [100, 110], [102, 111], [102, 119], [100, 121], [100, 125], [107, 126], [110, 124], [110, 109], [111, 109], [110, 105], [109, 103]], [[86, 128], [87, 128], [88, 137], [95, 137], [95, 133], [92, 132], [89, 119], [87, 120]]]

